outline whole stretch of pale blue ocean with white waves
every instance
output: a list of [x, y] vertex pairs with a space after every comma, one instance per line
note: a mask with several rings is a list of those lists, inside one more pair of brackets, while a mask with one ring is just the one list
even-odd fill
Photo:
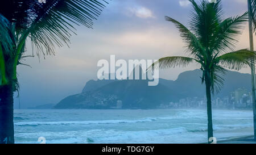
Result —
[[[15, 143], [205, 143], [206, 110], [14, 110]], [[253, 112], [213, 110], [214, 137], [253, 135]]]

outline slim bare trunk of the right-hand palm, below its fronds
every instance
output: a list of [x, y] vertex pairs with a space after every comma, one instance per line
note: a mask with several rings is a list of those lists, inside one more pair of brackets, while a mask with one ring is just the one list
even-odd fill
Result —
[[207, 93], [207, 118], [208, 118], [208, 143], [212, 143], [209, 141], [211, 137], [213, 137], [213, 127], [212, 127], [212, 97], [210, 92], [210, 76], [209, 72], [208, 75], [205, 76], [205, 86], [206, 86], [206, 93]]

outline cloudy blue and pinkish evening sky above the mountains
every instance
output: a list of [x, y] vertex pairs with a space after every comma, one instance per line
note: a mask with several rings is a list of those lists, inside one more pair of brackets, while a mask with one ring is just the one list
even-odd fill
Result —
[[[246, 0], [223, 0], [225, 17], [243, 14]], [[188, 26], [191, 4], [186, 0], [112, 0], [106, 6], [93, 29], [77, 26], [68, 47], [56, 48], [55, 56], [28, 57], [18, 66], [19, 96], [14, 107], [34, 107], [56, 104], [68, 95], [81, 93], [85, 83], [97, 79], [97, 62], [101, 59], [150, 59], [166, 56], [186, 56], [184, 43], [174, 24], [164, 20], [170, 16]], [[249, 48], [248, 28], [241, 35], [237, 49]], [[26, 55], [31, 55], [27, 43]], [[200, 68], [160, 70], [160, 78], [175, 80], [181, 72]], [[241, 73], [250, 73], [242, 69]], [[17, 97], [18, 96], [18, 97]]]

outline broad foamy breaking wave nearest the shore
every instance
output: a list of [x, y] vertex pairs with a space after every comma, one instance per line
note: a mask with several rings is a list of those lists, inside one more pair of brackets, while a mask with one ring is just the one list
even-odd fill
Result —
[[[213, 126], [214, 131], [221, 128]], [[34, 132], [34, 133], [16, 133], [18, 139], [27, 139], [29, 143], [31, 137], [46, 137], [47, 143], [192, 143], [193, 141], [203, 141], [205, 135], [201, 132], [207, 132], [207, 126], [200, 128], [175, 127], [166, 129], [153, 129], [142, 131], [120, 131], [117, 129], [89, 129], [80, 131], [65, 132]], [[195, 135], [196, 134], [196, 135]], [[196, 139], [195, 139], [196, 137]]]

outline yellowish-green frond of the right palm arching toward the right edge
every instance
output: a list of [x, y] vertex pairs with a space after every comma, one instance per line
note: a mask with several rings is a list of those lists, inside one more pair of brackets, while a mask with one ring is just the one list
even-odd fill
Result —
[[251, 52], [248, 49], [241, 49], [239, 51], [234, 51], [219, 56], [216, 58], [216, 60], [214, 60], [214, 62], [220, 63], [222, 66], [228, 69], [240, 70], [249, 66], [255, 58], [255, 52]]

